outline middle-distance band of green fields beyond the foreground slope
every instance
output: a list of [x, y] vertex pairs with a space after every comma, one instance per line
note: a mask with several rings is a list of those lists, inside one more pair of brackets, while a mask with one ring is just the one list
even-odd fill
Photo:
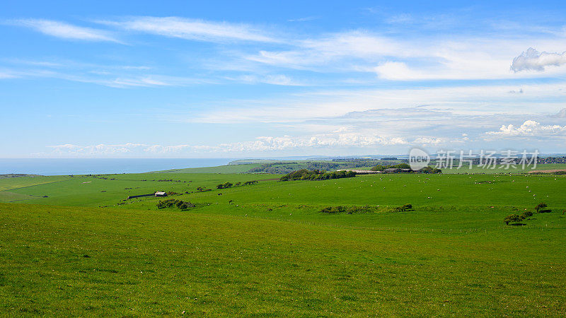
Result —
[[[127, 196], [155, 191], [178, 192], [178, 199], [203, 204], [381, 205], [398, 206], [519, 206], [545, 201], [566, 208], [566, 176], [553, 175], [360, 175], [325, 181], [278, 182], [279, 175], [245, 174], [125, 174], [45, 177], [40, 184], [10, 188], [0, 180], [0, 201], [62, 206], [113, 206]], [[49, 182], [49, 178], [53, 181]], [[24, 179], [24, 178], [15, 178]], [[35, 178], [33, 178], [35, 179]], [[161, 180], [161, 181], [160, 181]], [[216, 189], [224, 182], [260, 180], [259, 184]], [[32, 182], [32, 180], [28, 180]], [[30, 183], [25, 183], [30, 184]], [[20, 184], [23, 185], [23, 184]], [[11, 186], [15, 187], [15, 186]], [[212, 189], [197, 193], [197, 187]], [[189, 192], [189, 194], [185, 194]], [[193, 192], [193, 193], [191, 193]], [[219, 196], [218, 194], [222, 194]], [[47, 197], [43, 197], [47, 196]], [[151, 198], [127, 201], [130, 208], [154, 208]]]

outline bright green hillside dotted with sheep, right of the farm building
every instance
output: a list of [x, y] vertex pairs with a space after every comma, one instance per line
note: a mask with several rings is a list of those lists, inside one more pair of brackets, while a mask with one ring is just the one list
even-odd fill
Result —
[[[565, 176], [548, 175], [359, 175], [325, 181], [266, 181], [252, 187], [180, 196], [195, 202], [228, 204], [356, 206], [518, 206], [545, 201], [566, 208]], [[221, 196], [217, 194], [221, 193]], [[144, 201], [145, 202], [145, 201]], [[151, 201], [140, 202], [151, 207]], [[135, 208], [137, 204], [132, 204]]]

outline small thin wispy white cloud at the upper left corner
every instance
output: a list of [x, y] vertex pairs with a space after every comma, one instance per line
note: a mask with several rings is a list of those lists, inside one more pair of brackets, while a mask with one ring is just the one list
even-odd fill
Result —
[[67, 40], [85, 40], [94, 42], [117, 42], [120, 43], [115, 37], [110, 33], [97, 30], [93, 28], [85, 28], [77, 25], [71, 25], [69, 23], [64, 23], [54, 20], [42, 20], [42, 19], [21, 19], [21, 20], [11, 20], [9, 23], [13, 25], [20, 25], [26, 28], [31, 28], [33, 30], [39, 31], [46, 35], [51, 35], [53, 37], [59, 37]]

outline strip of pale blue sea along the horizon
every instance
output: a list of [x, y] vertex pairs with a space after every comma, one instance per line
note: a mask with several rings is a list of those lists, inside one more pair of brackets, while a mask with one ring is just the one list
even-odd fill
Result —
[[137, 173], [187, 167], [227, 165], [236, 159], [0, 159], [0, 175], [98, 175], [104, 173]]

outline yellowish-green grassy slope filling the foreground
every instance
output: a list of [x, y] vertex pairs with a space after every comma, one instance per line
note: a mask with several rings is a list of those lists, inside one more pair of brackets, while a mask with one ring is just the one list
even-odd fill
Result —
[[[454, 224], [440, 232], [424, 230], [432, 213], [422, 216], [423, 230], [410, 231], [219, 216], [206, 209], [0, 204], [0, 310], [566, 314], [566, 233], [556, 213], [541, 215], [531, 228], [459, 231]], [[388, 220], [401, 227], [406, 214]], [[545, 227], [550, 220], [560, 226]]]

